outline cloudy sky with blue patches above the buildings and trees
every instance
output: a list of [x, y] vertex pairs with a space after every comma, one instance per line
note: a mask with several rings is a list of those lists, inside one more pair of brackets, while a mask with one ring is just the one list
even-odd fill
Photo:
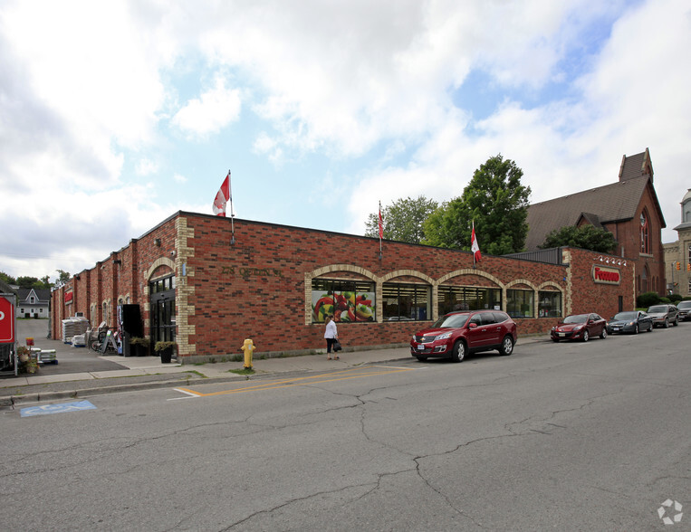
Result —
[[0, 4], [0, 271], [72, 274], [178, 210], [364, 233], [501, 153], [533, 203], [648, 147], [691, 186], [687, 0]]

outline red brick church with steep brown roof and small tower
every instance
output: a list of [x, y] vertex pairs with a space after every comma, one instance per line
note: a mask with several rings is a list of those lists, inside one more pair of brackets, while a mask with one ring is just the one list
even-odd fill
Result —
[[648, 291], [665, 295], [662, 229], [667, 225], [653, 185], [648, 148], [622, 157], [616, 183], [531, 205], [527, 223], [529, 252], [564, 226], [590, 224], [609, 231], [618, 242], [614, 254], [635, 265], [636, 295]]

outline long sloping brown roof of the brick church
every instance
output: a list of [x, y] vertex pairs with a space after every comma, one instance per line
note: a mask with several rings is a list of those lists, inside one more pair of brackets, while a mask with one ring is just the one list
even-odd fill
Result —
[[[529, 252], [539, 249], [538, 246], [542, 245], [548, 233], [565, 225], [576, 225], [581, 215], [586, 215], [586, 211], [589, 217], [596, 217], [600, 224], [632, 219], [649, 180], [649, 176], [631, 177], [611, 185], [531, 205], [528, 207], [526, 220], [529, 227], [525, 240], [526, 249]], [[662, 218], [659, 205], [657, 209]], [[664, 219], [662, 226], [665, 227]]]

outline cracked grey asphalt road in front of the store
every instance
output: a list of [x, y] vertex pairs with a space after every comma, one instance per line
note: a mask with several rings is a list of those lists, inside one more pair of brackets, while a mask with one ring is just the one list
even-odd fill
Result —
[[2, 528], [689, 530], [690, 340], [686, 323], [0, 411]]

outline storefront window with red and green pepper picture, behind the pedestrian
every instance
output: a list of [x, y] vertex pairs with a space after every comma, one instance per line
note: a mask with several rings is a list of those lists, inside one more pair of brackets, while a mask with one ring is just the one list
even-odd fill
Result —
[[339, 322], [374, 321], [374, 283], [365, 280], [312, 280], [312, 323], [333, 314]]

